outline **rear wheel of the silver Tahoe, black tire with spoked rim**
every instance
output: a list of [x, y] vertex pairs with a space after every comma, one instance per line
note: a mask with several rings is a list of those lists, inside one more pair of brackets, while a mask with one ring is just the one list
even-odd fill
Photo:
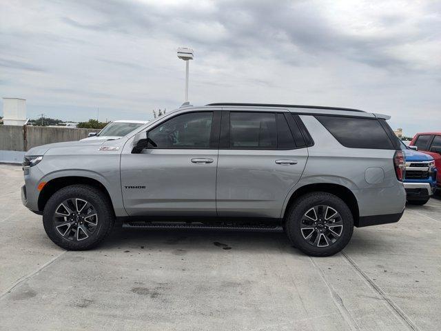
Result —
[[[319, 230], [305, 228], [305, 226], [310, 226], [318, 229], [316, 225], [314, 225], [314, 221], [312, 221], [312, 225], [305, 225], [304, 220], [308, 221], [305, 219], [305, 216], [312, 209], [314, 209], [314, 214], [316, 215], [315, 217], [318, 220], [319, 217], [315, 208], [318, 208], [318, 211], [320, 212], [320, 208], [321, 210], [324, 210], [323, 207], [329, 207], [330, 210], [334, 210], [338, 213], [338, 217], [335, 219], [329, 217], [329, 219], [327, 219], [328, 209], [326, 208], [325, 217], [323, 219], [327, 219], [327, 221], [322, 223], [322, 219], [320, 219], [320, 224], [318, 224], [320, 227], [322, 227], [319, 229], [323, 232], [320, 231], [319, 233]], [[335, 222], [336, 219], [338, 219], [337, 223], [333, 224], [332, 221]], [[329, 257], [330, 255], [340, 252], [340, 250], [345, 248], [347, 243], [349, 243], [353, 232], [353, 216], [347, 204], [334, 194], [329, 194], [327, 192], [313, 192], [303, 195], [302, 197], [298, 198], [293, 205], [291, 205], [285, 219], [285, 228], [291, 243], [305, 254], [310, 255], [311, 257]], [[331, 228], [333, 228], [333, 230], [338, 230], [331, 233]], [[304, 233], [303, 230], [312, 232]], [[341, 232], [337, 236], [336, 232], [338, 231]], [[305, 234], [308, 234], [306, 237], [309, 237], [309, 239], [305, 237]], [[313, 241], [312, 239], [314, 239], [314, 235], [316, 236], [316, 239], [318, 237], [316, 245], [311, 243], [311, 241]], [[323, 238], [322, 236], [326, 237]], [[328, 245], [320, 247], [318, 246], [320, 242], [322, 242], [322, 244], [327, 243]]]

